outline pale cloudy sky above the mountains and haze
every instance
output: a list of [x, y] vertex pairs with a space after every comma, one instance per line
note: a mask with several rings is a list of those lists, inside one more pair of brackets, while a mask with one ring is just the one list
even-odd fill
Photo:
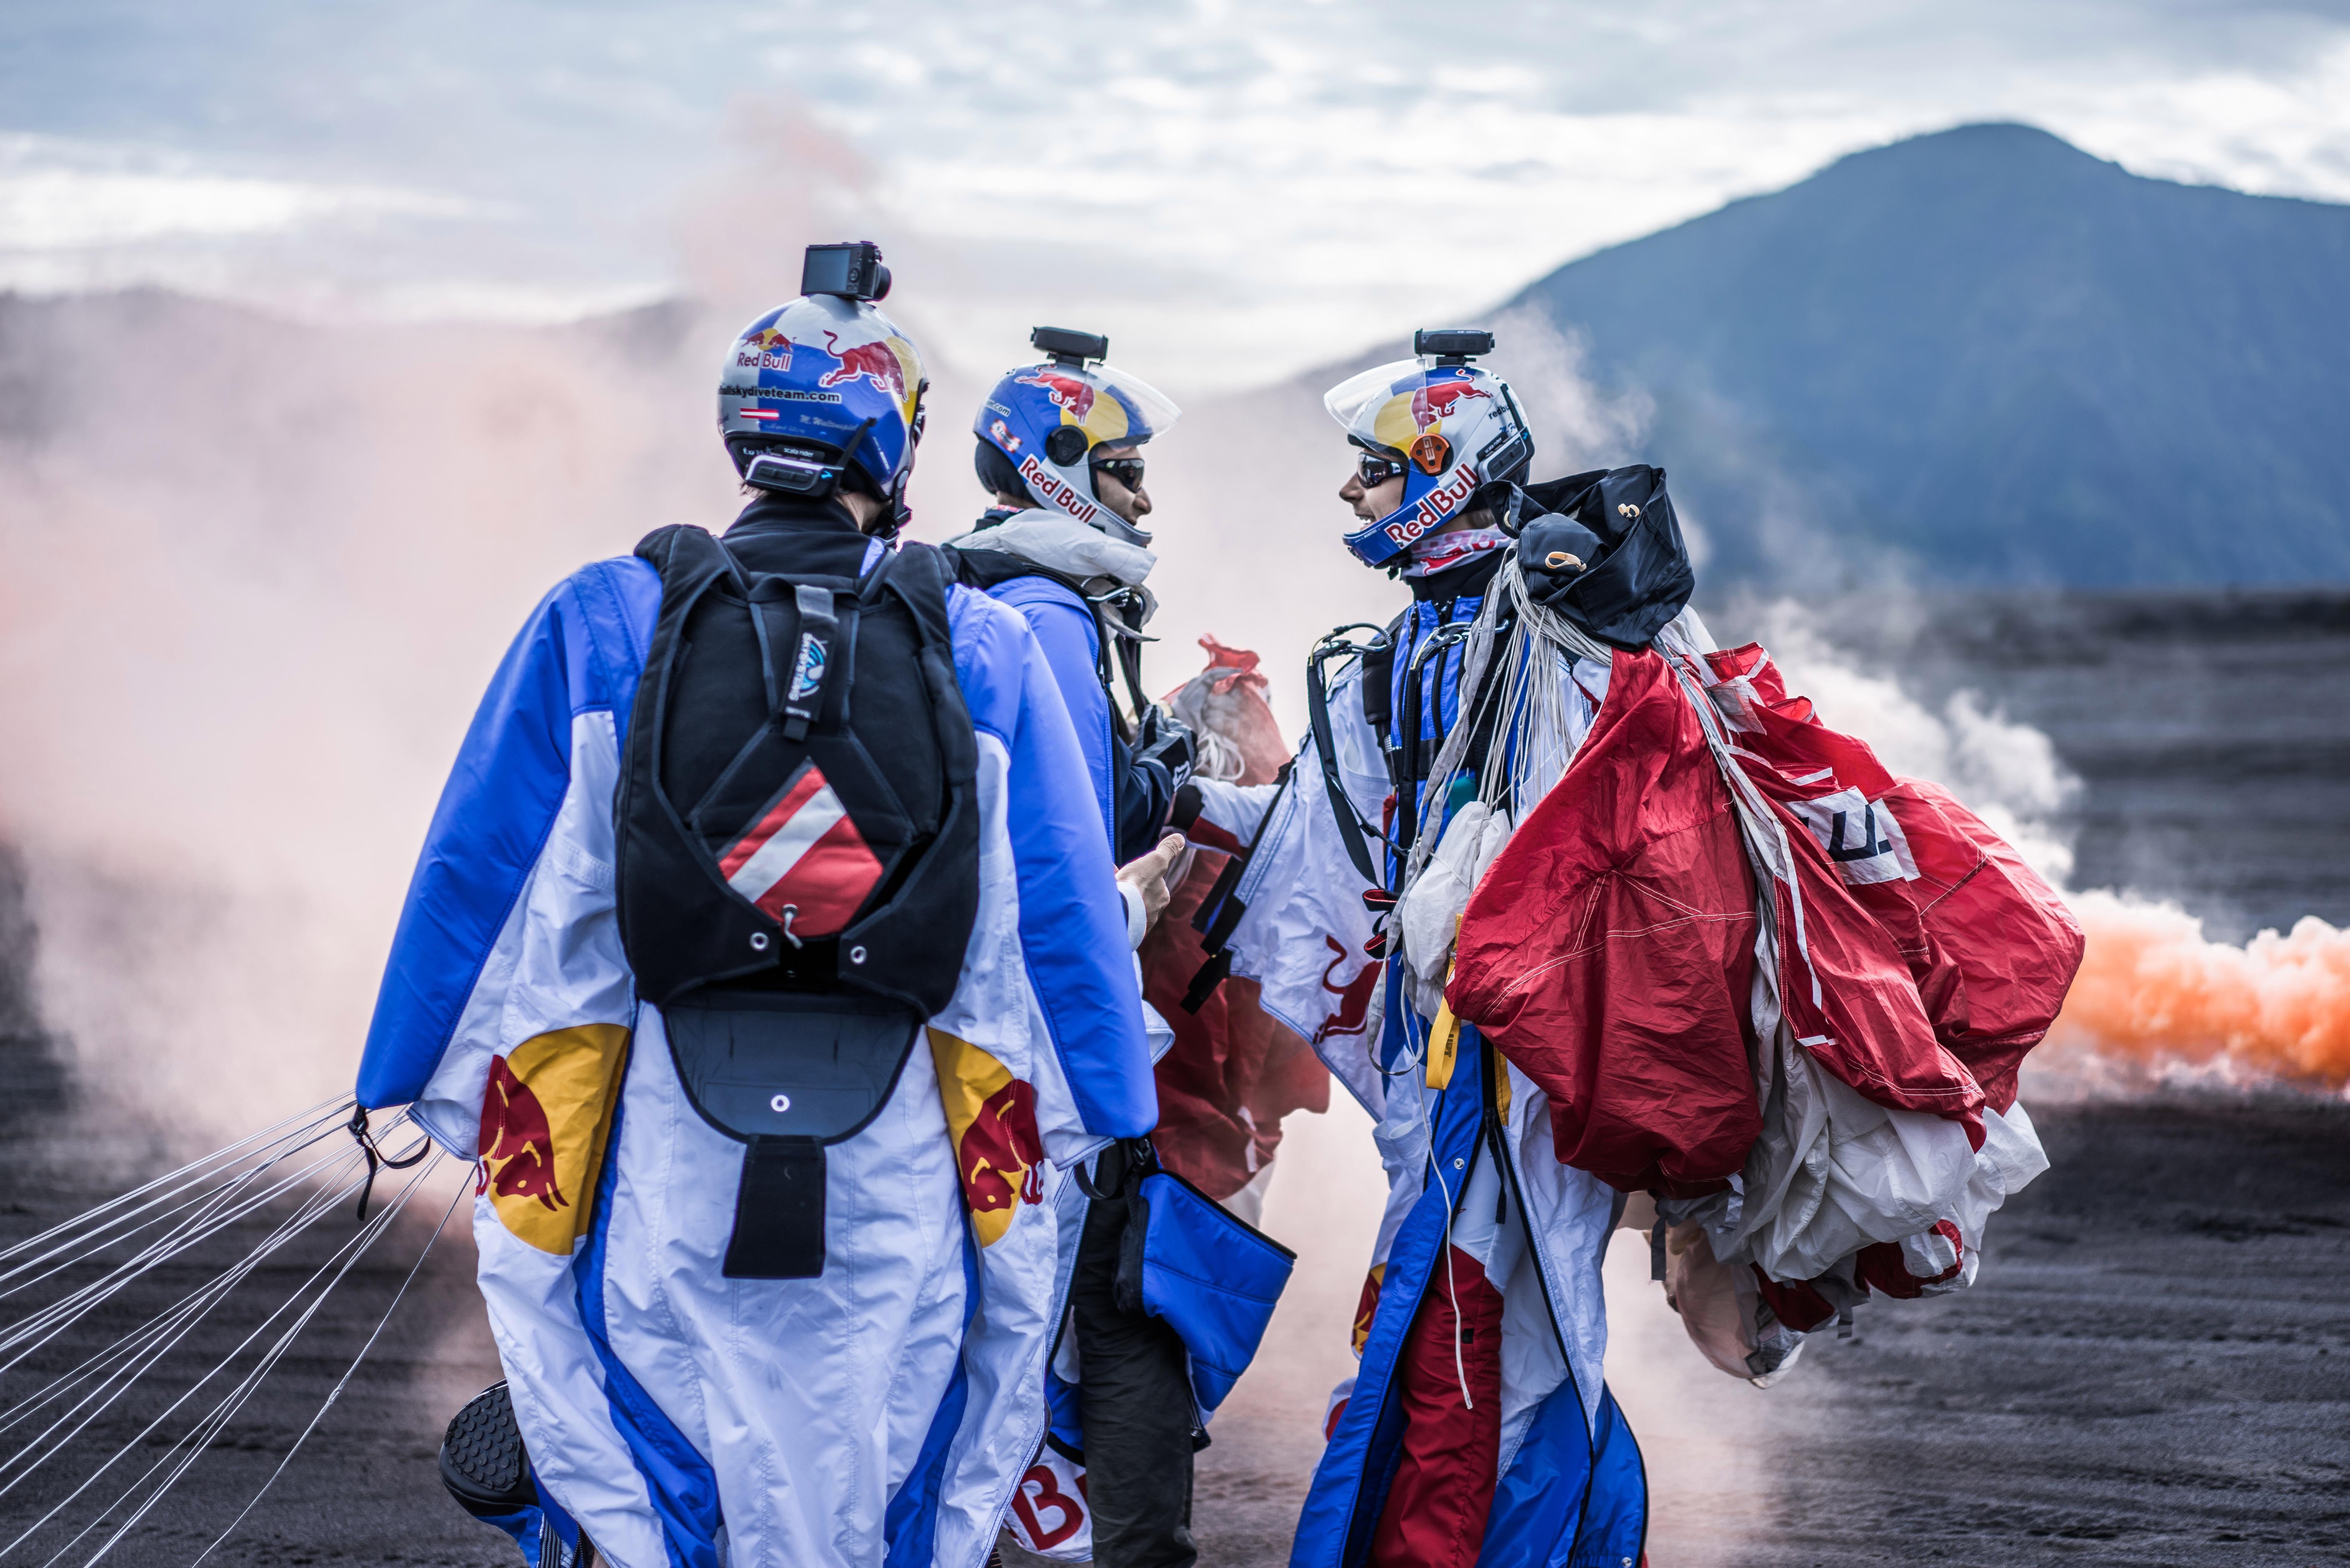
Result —
[[787, 294], [780, 209], [1203, 393], [1969, 120], [2350, 200], [2350, 0], [9, 0], [0, 287], [564, 320]]

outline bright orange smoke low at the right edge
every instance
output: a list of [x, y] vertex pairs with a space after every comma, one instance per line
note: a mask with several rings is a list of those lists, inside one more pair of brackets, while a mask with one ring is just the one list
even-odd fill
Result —
[[2089, 954], [2049, 1044], [2350, 1084], [2350, 931], [2303, 917], [2232, 947], [2176, 905], [2077, 893], [2073, 912]]

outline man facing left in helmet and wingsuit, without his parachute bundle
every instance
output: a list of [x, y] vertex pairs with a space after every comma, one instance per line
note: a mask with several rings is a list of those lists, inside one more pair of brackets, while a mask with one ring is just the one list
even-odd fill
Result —
[[1509, 543], [1459, 524], [1490, 522], [1473, 498], [1523, 477], [1532, 442], [1506, 383], [1462, 357], [1365, 371], [1330, 407], [1365, 480], [1405, 470], [1403, 505], [1349, 545], [1398, 569], [1412, 604], [1368, 646], [1318, 649], [1288, 778], [1198, 783], [1191, 827], [1246, 853], [1203, 910], [1210, 945], [1372, 1114], [1389, 1175], [1361, 1363], [1290, 1561], [1624, 1568], [1647, 1526], [1640, 1450], [1600, 1371], [1600, 1258], [1624, 1199], [1558, 1161], [1539, 1086], [1379, 961], [1410, 825], [1450, 816], [1422, 795], [1464, 722], [1462, 635]]

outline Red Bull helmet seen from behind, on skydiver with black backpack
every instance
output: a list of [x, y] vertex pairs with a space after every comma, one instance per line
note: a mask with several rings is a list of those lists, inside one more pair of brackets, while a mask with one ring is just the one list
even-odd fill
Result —
[[719, 371], [719, 437], [747, 484], [822, 498], [855, 470], [905, 522], [921, 353], [872, 301], [806, 294], [743, 329]]

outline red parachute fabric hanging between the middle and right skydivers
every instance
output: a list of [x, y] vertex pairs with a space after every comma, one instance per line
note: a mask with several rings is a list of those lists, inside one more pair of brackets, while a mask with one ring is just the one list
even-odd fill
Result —
[[[1264, 703], [1257, 656], [1215, 637], [1201, 637], [1201, 646], [1208, 668], [1168, 693], [1168, 708], [1198, 738], [1201, 778], [1274, 783], [1288, 743]], [[1191, 917], [1236, 849], [1213, 825], [1201, 830], [1168, 912], [1142, 938], [1142, 999], [1175, 1030], [1175, 1046], [1159, 1058], [1152, 1145], [1170, 1171], [1220, 1201], [1269, 1168], [1283, 1117], [1330, 1110], [1330, 1070], [1297, 1030], [1264, 1011], [1255, 980], [1229, 976], [1196, 1009], [1184, 1006], [1210, 957]]]

